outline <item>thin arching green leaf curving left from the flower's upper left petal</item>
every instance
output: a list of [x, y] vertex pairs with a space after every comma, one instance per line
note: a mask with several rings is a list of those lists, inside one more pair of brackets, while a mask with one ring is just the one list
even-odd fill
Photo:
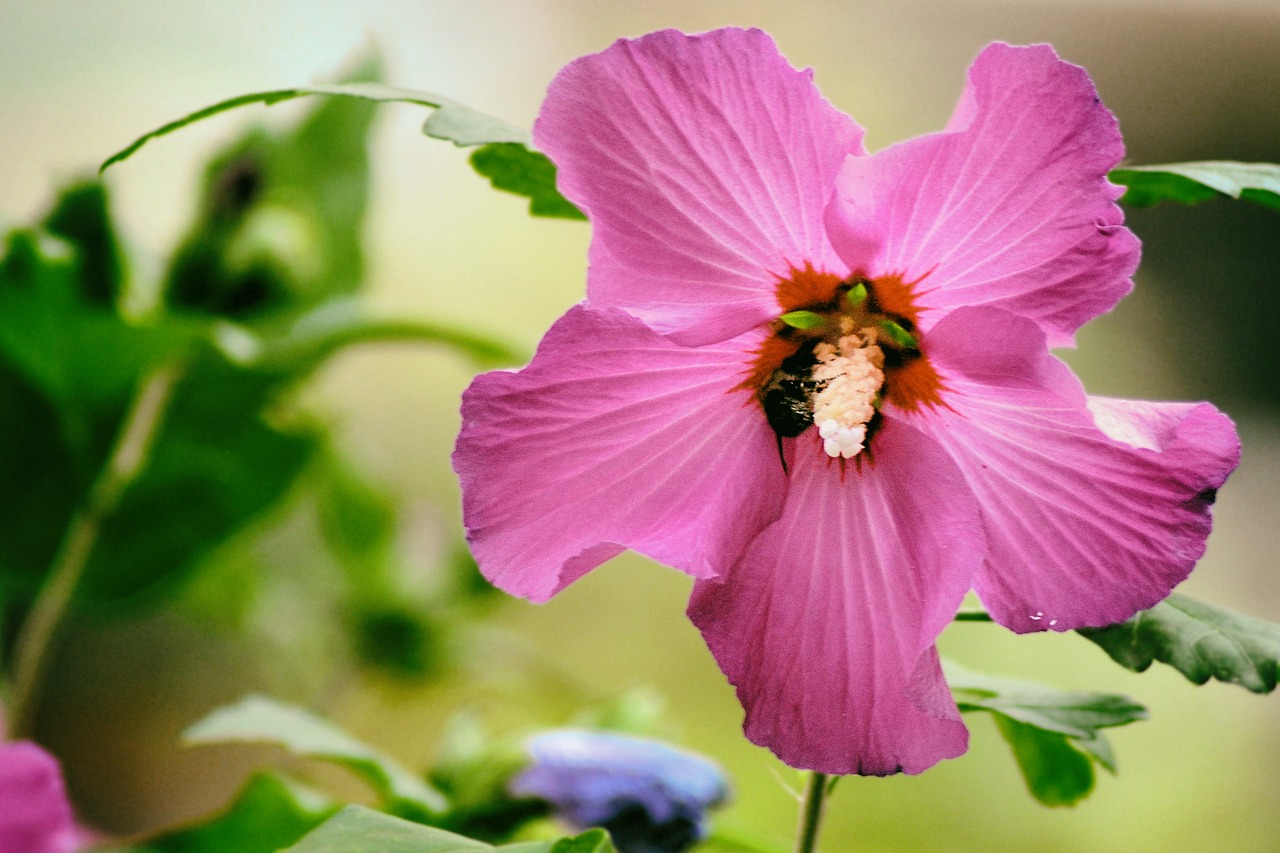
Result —
[[436, 95], [435, 92], [401, 88], [398, 86], [383, 86], [379, 83], [296, 86], [293, 88], [274, 88], [266, 92], [237, 95], [236, 97], [228, 97], [224, 101], [218, 101], [216, 104], [169, 122], [150, 133], [143, 133], [128, 146], [109, 156], [102, 163], [100, 170], [105, 172], [116, 163], [128, 160], [138, 151], [138, 149], [151, 140], [166, 136], [174, 131], [187, 127], [188, 124], [195, 124], [196, 122], [218, 115], [219, 113], [225, 113], [227, 110], [233, 110], [238, 106], [248, 106], [250, 104], [271, 106], [274, 104], [291, 101], [296, 97], [307, 97], [312, 95], [353, 97], [380, 104], [416, 104], [419, 106], [430, 108], [435, 111], [426, 119], [426, 123], [422, 126], [422, 132], [436, 140], [453, 142], [460, 147], [486, 145], [489, 142], [529, 141], [527, 131], [503, 122], [493, 115], [486, 115], [485, 113], [474, 110], [465, 104], [454, 101], [453, 99]]

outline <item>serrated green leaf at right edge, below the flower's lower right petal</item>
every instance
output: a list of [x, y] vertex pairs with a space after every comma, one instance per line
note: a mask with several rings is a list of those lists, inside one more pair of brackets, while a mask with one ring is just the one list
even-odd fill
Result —
[[1152, 661], [1196, 684], [1210, 679], [1271, 693], [1280, 671], [1280, 625], [1172, 594], [1132, 619], [1082, 628], [1116, 663], [1143, 672]]

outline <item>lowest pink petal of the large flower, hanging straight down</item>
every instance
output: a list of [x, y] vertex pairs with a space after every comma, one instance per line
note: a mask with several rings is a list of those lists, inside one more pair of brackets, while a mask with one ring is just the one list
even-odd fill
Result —
[[813, 432], [796, 439], [782, 517], [690, 599], [746, 736], [792, 767], [918, 774], [968, 744], [933, 640], [982, 561], [978, 510], [905, 423], [873, 448], [842, 476]]

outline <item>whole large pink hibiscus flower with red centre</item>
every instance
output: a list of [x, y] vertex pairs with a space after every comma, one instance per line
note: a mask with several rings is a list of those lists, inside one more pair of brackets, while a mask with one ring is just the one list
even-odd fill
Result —
[[1129, 617], [1235, 467], [1207, 403], [1085, 396], [1050, 346], [1132, 287], [1083, 69], [987, 47], [947, 128], [874, 155], [759, 31], [571, 63], [534, 128], [590, 216], [586, 301], [480, 377], [454, 453], [476, 558], [545, 601], [634, 548], [787, 763], [920, 772], [968, 733], [934, 640]]

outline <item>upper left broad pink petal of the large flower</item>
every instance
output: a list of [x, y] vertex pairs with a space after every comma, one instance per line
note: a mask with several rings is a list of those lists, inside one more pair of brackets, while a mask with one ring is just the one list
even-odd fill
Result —
[[778, 313], [805, 261], [844, 274], [823, 210], [861, 129], [759, 29], [668, 29], [571, 63], [534, 138], [586, 210], [588, 298], [684, 343]]

